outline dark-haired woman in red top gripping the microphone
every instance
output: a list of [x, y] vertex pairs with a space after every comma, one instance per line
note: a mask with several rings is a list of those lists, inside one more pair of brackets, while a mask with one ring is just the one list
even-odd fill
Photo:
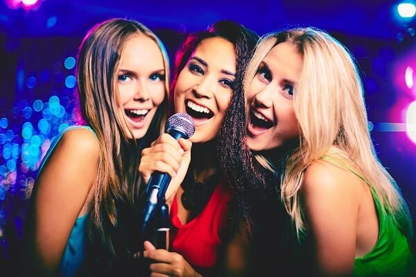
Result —
[[[223, 276], [220, 270], [232, 232], [232, 192], [220, 169], [218, 132], [229, 103], [244, 106], [240, 87], [243, 71], [258, 36], [229, 21], [212, 24], [187, 37], [175, 58], [171, 89], [172, 112], [186, 112], [196, 131], [187, 149], [162, 135], [144, 149], [140, 172], [147, 180], [153, 171], [173, 178], [171, 249], [155, 249], [145, 242], [150, 271], [168, 276]], [[182, 153], [186, 158], [182, 158]]]

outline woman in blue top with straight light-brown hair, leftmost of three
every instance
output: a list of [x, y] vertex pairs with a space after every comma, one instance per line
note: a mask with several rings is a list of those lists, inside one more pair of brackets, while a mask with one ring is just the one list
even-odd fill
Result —
[[166, 51], [146, 26], [110, 19], [85, 36], [76, 73], [80, 125], [58, 135], [32, 194], [30, 275], [123, 274], [139, 244], [139, 153], [163, 133]]

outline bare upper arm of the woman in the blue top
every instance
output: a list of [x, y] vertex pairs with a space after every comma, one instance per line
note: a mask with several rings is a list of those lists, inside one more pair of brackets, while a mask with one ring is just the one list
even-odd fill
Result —
[[65, 133], [37, 177], [24, 242], [25, 262], [42, 276], [57, 274], [69, 234], [97, 173], [98, 142], [85, 129]]

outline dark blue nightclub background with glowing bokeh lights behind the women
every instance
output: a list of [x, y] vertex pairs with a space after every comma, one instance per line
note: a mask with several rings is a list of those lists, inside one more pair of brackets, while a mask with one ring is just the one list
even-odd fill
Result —
[[37, 168], [51, 139], [71, 124], [78, 45], [89, 28], [111, 17], [137, 19], [152, 28], [171, 60], [184, 35], [217, 19], [239, 21], [260, 35], [287, 26], [329, 31], [358, 62], [376, 151], [415, 219], [416, 24], [412, 17], [399, 17], [398, 4], [1, 0], [0, 261], [18, 266], [13, 257]]

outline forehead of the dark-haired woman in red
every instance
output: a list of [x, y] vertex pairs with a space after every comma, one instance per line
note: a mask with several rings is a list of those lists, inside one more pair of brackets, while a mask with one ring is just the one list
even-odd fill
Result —
[[193, 51], [192, 56], [205, 60], [208, 67], [217, 66], [229, 72], [236, 71], [234, 44], [222, 37], [210, 37], [202, 40]]

